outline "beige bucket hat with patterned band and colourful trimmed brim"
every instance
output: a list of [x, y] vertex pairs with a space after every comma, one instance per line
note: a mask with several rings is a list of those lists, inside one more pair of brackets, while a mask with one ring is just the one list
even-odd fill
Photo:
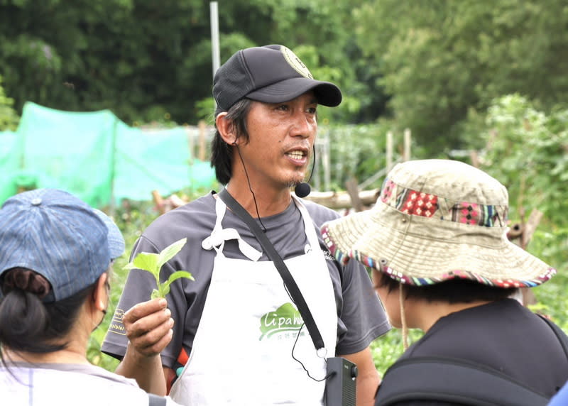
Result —
[[388, 173], [372, 209], [322, 226], [342, 263], [355, 258], [408, 285], [452, 278], [532, 287], [556, 270], [508, 241], [508, 193], [455, 160], [413, 160]]

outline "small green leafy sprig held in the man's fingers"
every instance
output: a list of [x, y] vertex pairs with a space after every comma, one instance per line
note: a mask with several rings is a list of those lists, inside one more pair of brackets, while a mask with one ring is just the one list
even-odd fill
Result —
[[175, 243], [165, 247], [162, 251], [160, 251], [160, 253], [138, 253], [132, 262], [127, 263], [124, 266], [124, 269], [130, 270], [136, 268], [147, 270], [149, 273], [154, 275], [157, 287], [157, 289], [152, 291], [151, 299], [155, 299], [156, 297], [165, 297], [165, 295], [168, 295], [170, 292], [170, 285], [173, 281], [180, 278], [194, 280], [191, 273], [187, 272], [187, 270], [177, 270], [170, 275], [168, 280], [160, 282], [160, 269], [162, 268], [162, 265], [172, 259], [175, 254], [180, 252], [182, 247], [185, 246], [186, 241], [187, 238], [175, 241]]

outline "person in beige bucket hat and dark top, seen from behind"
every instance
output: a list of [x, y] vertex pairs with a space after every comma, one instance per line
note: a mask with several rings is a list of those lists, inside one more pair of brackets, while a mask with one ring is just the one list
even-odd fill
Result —
[[[372, 209], [322, 226], [339, 261], [353, 258], [371, 268], [393, 327], [402, 328], [405, 339], [408, 328], [425, 332], [412, 346], [405, 344], [383, 376], [377, 405], [390, 405], [400, 383], [407, 397], [395, 405], [479, 404], [457, 397], [442, 402], [440, 394], [418, 389], [442, 379], [448, 390], [475, 392], [473, 379], [451, 383], [459, 374], [450, 379], [423, 371], [416, 380], [397, 375], [403, 364], [432, 357], [474, 363], [547, 398], [567, 380], [566, 335], [510, 298], [556, 270], [508, 241], [507, 224], [508, 192], [498, 180], [455, 160], [413, 160], [388, 173]], [[507, 399], [504, 388], [499, 395]]]

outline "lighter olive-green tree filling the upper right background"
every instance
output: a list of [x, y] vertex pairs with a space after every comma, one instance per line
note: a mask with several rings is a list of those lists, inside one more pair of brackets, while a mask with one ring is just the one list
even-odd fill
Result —
[[430, 148], [462, 147], [460, 121], [494, 97], [550, 107], [568, 92], [564, 0], [373, 0], [356, 19], [398, 125]]

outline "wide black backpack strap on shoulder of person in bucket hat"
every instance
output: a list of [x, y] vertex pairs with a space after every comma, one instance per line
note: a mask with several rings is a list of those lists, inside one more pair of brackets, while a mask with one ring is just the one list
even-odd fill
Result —
[[376, 405], [438, 400], [471, 406], [545, 406], [547, 397], [507, 375], [465, 360], [417, 357], [397, 361], [386, 372]]

